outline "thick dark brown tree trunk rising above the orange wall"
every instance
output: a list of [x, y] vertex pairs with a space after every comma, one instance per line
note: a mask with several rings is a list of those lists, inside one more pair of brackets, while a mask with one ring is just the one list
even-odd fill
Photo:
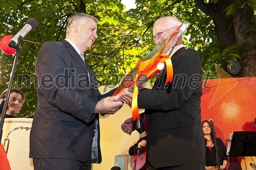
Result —
[[[203, 0], [195, 0], [199, 9], [206, 15], [212, 16], [214, 21], [216, 35], [221, 46], [221, 50], [234, 44], [239, 43], [245, 48], [240, 54], [241, 59], [238, 60], [239, 71], [232, 74], [234, 77], [251, 77], [256, 75], [256, 48], [255, 34], [253, 29], [255, 23], [252, 21], [253, 10], [246, 6], [244, 9], [237, 9], [234, 15], [226, 16], [224, 11], [230, 5], [236, 3], [236, 0], [220, 0], [217, 4], [205, 4]], [[246, 0], [241, 1], [241, 5]], [[254, 29], [255, 30], [255, 29]], [[224, 61], [224, 65], [229, 63]], [[225, 69], [228, 71], [228, 69]]]

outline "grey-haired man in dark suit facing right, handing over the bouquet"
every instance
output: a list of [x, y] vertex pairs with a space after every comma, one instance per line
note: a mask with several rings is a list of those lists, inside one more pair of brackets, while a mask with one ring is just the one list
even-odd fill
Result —
[[99, 114], [114, 114], [123, 105], [101, 95], [86, 61], [86, 52], [97, 38], [97, 19], [73, 15], [66, 39], [40, 47], [35, 71], [38, 105], [30, 133], [34, 169], [91, 169], [101, 162]]

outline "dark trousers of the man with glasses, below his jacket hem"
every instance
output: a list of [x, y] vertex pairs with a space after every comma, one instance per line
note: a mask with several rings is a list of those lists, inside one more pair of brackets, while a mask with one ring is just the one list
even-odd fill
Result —
[[205, 170], [205, 164], [203, 163], [189, 163], [184, 165], [178, 165], [178, 166], [169, 166], [169, 167], [161, 167], [157, 168], [158, 170]]

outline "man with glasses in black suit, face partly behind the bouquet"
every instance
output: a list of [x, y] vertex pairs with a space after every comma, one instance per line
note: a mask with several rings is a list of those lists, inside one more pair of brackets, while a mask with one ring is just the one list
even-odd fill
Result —
[[[153, 28], [158, 45], [172, 34], [180, 22], [173, 16], [158, 19]], [[130, 134], [137, 129], [147, 132], [147, 164], [157, 169], [205, 169], [205, 147], [201, 128], [202, 67], [198, 53], [182, 45], [182, 37], [170, 55], [173, 82], [166, 84], [162, 71], [153, 89], [142, 88], [138, 106], [144, 108], [142, 119], [125, 120], [122, 130]], [[120, 100], [131, 102], [132, 94], [123, 90]], [[143, 121], [144, 118], [144, 121]], [[143, 126], [147, 122], [147, 126]]]

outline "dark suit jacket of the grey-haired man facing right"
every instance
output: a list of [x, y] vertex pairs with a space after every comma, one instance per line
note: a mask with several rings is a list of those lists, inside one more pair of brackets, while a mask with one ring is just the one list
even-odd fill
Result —
[[[98, 118], [93, 114], [95, 106], [114, 90], [100, 95], [92, 70], [66, 40], [42, 44], [35, 71], [38, 105], [30, 133], [30, 157], [86, 161]], [[99, 133], [96, 151], [100, 163]]]

